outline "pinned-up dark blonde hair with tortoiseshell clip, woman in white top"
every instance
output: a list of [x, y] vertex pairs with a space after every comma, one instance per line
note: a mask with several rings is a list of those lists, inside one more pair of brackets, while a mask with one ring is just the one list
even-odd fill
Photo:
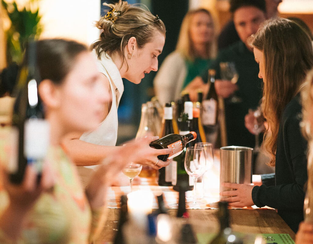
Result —
[[112, 57], [112, 54], [117, 52], [123, 58], [123, 63], [125, 61], [127, 64], [124, 48], [129, 38], [136, 37], [138, 48], [142, 48], [152, 41], [155, 32], [165, 36], [164, 23], [148, 9], [121, 0], [115, 4], [103, 5], [111, 9], [96, 22], [96, 27], [101, 30], [101, 34], [100, 39], [95, 41], [91, 48], [95, 49], [98, 58], [102, 53]]

